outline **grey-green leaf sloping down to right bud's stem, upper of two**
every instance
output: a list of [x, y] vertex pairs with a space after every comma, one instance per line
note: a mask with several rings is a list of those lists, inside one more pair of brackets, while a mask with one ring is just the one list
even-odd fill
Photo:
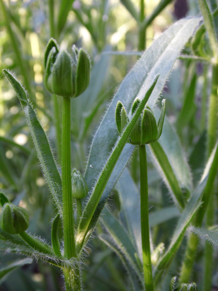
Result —
[[104, 219], [102, 220], [103, 226], [112, 237], [114, 243], [117, 245], [117, 248], [123, 253], [126, 260], [128, 260], [129, 264], [135, 270], [143, 284], [143, 272], [142, 269], [139, 268], [135, 257], [137, 250], [129, 239], [128, 233], [108, 209], [105, 208], [102, 213], [104, 215]]

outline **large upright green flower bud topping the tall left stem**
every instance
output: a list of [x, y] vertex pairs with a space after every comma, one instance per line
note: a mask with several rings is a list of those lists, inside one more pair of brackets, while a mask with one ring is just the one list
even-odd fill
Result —
[[75, 60], [65, 50], [59, 51], [51, 38], [44, 55], [44, 83], [49, 92], [63, 97], [77, 97], [89, 85], [90, 61], [84, 49], [73, 47]]

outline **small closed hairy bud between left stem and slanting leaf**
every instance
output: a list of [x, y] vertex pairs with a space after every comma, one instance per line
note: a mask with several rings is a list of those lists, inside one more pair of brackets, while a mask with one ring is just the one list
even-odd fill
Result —
[[88, 194], [88, 186], [83, 175], [76, 169], [72, 172], [72, 197], [76, 199], [84, 198]]

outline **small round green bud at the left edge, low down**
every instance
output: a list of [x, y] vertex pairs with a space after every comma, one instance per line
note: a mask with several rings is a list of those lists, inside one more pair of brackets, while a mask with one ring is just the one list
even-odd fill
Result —
[[11, 203], [4, 205], [1, 216], [1, 228], [7, 233], [22, 233], [29, 226], [29, 215], [27, 211]]

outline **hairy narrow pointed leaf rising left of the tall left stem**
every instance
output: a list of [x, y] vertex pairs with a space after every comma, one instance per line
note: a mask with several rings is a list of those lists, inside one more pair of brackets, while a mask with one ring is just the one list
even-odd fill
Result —
[[26, 98], [26, 93], [22, 86], [8, 71], [3, 70], [3, 72], [10, 81], [12, 87], [14, 88], [17, 97], [21, 103], [21, 106], [24, 110], [27, 124], [29, 126], [37, 155], [42, 166], [42, 171], [48, 183], [53, 201], [58, 210], [61, 212], [62, 196], [60, 189], [62, 187], [62, 183], [47, 136], [36, 116], [35, 111], [33, 110], [31, 104]]

